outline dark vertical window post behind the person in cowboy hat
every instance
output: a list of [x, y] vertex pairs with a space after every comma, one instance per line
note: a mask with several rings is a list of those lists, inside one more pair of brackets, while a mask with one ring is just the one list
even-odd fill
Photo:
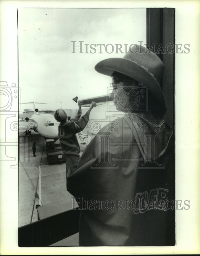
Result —
[[[175, 9], [174, 8], [147, 8], [146, 9], [146, 43], [164, 63], [164, 73], [160, 86], [165, 96], [167, 112], [165, 119], [174, 127], [174, 79], [175, 79]], [[174, 129], [175, 133], [175, 129]], [[171, 197], [175, 200], [175, 151], [171, 165]], [[167, 212], [168, 227], [166, 245], [175, 244], [175, 210]]]

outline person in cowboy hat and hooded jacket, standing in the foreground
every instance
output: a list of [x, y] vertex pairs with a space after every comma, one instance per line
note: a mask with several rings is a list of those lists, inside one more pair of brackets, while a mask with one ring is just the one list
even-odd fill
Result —
[[110, 98], [125, 115], [105, 125], [68, 169], [67, 190], [80, 206], [79, 246], [174, 245], [173, 130], [163, 118], [163, 68], [139, 45], [95, 66], [112, 77]]

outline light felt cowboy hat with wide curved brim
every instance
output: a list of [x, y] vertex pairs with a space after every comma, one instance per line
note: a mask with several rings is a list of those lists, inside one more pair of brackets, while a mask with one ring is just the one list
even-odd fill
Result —
[[143, 83], [165, 108], [165, 98], [158, 83], [163, 69], [163, 62], [155, 53], [137, 44], [129, 49], [124, 58], [105, 59], [95, 66], [101, 74], [111, 76], [117, 71]]

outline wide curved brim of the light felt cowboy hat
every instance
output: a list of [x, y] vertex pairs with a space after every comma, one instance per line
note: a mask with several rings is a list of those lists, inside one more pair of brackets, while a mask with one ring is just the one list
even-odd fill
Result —
[[143, 86], [146, 86], [152, 95], [165, 108], [165, 98], [159, 83], [151, 73], [139, 64], [127, 59], [109, 58], [97, 63], [95, 70], [107, 76], [111, 76], [114, 71], [117, 71], [143, 83]]

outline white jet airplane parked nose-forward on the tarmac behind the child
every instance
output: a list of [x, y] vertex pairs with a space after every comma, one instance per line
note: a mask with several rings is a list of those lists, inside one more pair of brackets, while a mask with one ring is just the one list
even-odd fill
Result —
[[29, 117], [25, 117], [26, 122], [35, 122], [35, 127], [31, 127], [30, 130], [38, 132], [42, 137], [45, 139], [54, 139], [55, 141], [58, 140], [58, 125], [59, 122], [54, 118], [54, 115], [51, 114], [39, 114], [38, 109], [35, 108], [35, 103], [39, 104], [47, 104], [47, 103], [40, 103], [40, 102], [26, 102], [21, 104], [28, 104], [32, 103], [34, 105], [34, 114]]

